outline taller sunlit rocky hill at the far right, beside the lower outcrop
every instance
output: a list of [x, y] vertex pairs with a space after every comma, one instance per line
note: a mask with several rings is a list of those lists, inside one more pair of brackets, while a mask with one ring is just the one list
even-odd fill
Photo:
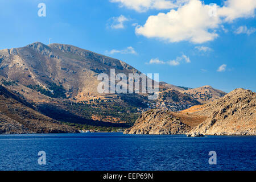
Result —
[[189, 134], [256, 135], [256, 93], [235, 89], [209, 104], [184, 112], [207, 116]]

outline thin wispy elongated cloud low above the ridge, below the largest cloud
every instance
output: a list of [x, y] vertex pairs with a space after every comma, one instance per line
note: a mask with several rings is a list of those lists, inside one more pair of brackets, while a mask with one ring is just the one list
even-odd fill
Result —
[[158, 58], [151, 59], [148, 63], [146, 64], [169, 64], [172, 66], [177, 66], [179, 65], [182, 61], [184, 60], [185, 63], [191, 63], [191, 60], [189, 59], [188, 56], [186, 55], [181, 55], [179, 57], [176, 57], [175, 60], [169, 60], [169, 61], [162, 61], [159, 60]]

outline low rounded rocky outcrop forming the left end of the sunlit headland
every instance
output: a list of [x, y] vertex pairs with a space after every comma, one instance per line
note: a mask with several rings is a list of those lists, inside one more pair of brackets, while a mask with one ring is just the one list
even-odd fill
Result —
[[186, 134], [192, 127], [203, 122], [205, 117], [174, 113], [166, 110], [146, 111], [125, 134], [177, 135]]

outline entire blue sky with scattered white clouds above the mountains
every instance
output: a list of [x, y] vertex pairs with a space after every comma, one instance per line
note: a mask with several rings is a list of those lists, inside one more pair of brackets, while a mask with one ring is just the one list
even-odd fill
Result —
[[0, 0], [0, 49], [51, 39], [169, 84], [255, 92], [255, 8], [255, 0]]

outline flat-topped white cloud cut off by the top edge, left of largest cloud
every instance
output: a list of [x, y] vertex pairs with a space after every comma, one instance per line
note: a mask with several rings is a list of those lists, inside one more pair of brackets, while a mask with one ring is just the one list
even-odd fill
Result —
[[168, 10], [179, 7], [189, 0], [110, 0], [119, 3], [120, 7], [127, 7], [138, 12], [145, 12], [149, 9]]

